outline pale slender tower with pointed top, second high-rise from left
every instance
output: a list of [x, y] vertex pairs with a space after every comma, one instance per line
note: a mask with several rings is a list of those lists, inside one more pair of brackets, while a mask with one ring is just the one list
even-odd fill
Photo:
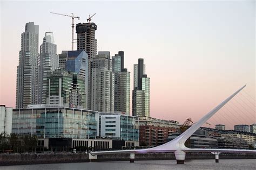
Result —
[[[48, 34], [48, 35], [47, 35]], [[40, 46], [37, 76], [37, 104], [46, 104], [47, 76], [58, 68], [57, 45], [54, 44], [53, 34], [45, 33], [43, 44]]]

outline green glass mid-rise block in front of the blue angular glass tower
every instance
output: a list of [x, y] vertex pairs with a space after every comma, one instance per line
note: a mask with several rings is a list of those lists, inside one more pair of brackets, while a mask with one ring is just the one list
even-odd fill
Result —
[[46, 105], [86, 108], [85, 80], [77, 74], [57, 69], [48, 76]]

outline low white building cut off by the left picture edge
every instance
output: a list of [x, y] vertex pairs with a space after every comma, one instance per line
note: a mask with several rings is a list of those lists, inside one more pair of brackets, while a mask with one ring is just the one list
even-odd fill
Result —
[[0, 133], [11, 133], [12, 108], [0, 105]]

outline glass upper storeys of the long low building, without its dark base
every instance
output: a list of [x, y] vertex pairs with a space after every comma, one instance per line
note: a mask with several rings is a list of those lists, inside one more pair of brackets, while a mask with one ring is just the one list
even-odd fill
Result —
[[14, 109], [12, 133], [38, 138], [96, 139], [99, 114], [73, 108]]

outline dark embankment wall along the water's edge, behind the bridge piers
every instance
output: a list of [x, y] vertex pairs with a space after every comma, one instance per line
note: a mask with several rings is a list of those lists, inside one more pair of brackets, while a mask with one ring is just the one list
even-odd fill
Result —
[[[140, 153], [136, 160], [173, 160], [174, 153]], [[187, 153], [186, 160], [213, 159], [211, 153]], [[256, 154], [221, 153], [219, 159], [256, 159]], [[94, 161], [128, 161], [130, 154], [98, 155]], [[24, 164], [56, 164], [68, 162], [89, 162], [89, 155], [85, 153], [39, 153], [39, 154], [0, 154], [0, 166]]]

